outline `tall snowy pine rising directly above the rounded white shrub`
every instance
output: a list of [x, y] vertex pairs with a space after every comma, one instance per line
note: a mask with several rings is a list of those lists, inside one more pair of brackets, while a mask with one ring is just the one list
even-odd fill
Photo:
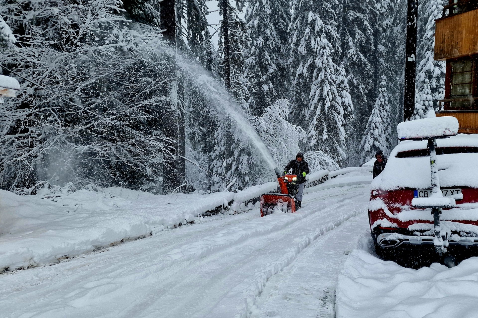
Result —
[[271, 1], [250, 1], [245, 21], [250, 40], [245, 51], [246, 73], [252, 75], [249, 109], [253, 115], [260, 116], [274, 100], [284, 95], [283, 74], [277, 66], [284, 49], [272, 24]]

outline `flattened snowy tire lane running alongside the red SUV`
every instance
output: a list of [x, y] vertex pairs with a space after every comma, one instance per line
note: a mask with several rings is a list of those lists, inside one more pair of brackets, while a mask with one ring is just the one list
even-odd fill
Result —
[[272, 277], [250, 317], [334, 318], [337, 274], [347, 251], [355, 247], [367, 225], [367, 215], [359, 214], [318, 238], [295, 262]]

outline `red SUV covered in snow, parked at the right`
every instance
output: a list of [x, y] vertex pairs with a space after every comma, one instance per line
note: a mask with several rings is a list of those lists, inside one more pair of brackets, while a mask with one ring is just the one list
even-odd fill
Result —
[[[448, 253], [457, 260], [470, 255], [464, 252], [478, 255], [478, 134], [438, 139], [436, 154], [443, 195], [456, 200], [440, 218]], [[431, 193], [427, 141], [399, 143], [370, 190], [370, 231], [379, 256], [400, 261], [410, 252], [435, 254], [431, 209], [412, 207], [413, 197]]]

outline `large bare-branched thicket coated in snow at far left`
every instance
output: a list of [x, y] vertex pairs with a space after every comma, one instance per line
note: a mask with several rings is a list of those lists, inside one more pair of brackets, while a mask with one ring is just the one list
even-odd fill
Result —
[[173, 142], [159, 31], [128, 22], [117, 0], [4, 3], [17, 47], [0, 64], [34, 84], [18, 78], [22, 91], [0, 109], [0, 187], [157, 179]]

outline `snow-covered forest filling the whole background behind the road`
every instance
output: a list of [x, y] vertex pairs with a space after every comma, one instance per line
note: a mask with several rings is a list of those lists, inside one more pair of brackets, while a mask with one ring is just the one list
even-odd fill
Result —
[[[415, 118], [443, 98], [442, 11], [420, 2]], [[313, 171], [356, 166], [396, 143], [404, 0], [0, 0], [0, 17], [0, 73], [22, 87], [0, 106], [2, 189], [271, 181], [232, 113], [281, 168], [299, 151]]]

